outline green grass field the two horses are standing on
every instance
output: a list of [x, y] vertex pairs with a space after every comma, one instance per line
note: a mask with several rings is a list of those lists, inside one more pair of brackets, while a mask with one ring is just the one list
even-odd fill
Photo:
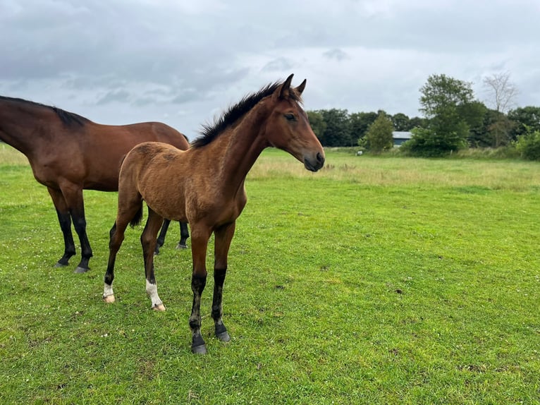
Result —
[[[190, 253], [171, 225], [154, 313], [140, 231], [102, 302], [116, 194], [85, 192], [92, 270], [54, 263], [46, 188], [0, 145], [1, 404], [539, 404], [540, 164], [265, 151], [211, 335], [190, 353]], [[188, 241], [189, 244], [189, 241]], [[209, 251], [211, 268], [212, 252]]]

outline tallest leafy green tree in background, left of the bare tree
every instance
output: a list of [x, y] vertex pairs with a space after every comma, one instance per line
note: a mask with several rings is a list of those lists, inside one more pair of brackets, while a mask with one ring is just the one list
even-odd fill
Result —
[[467, 108], [474, 101], [471, 83], [446, 75], [431, 75], [420, 92], [427, 125], [412, 131], [407, 149], [413, 155], [442, 156], [467, 146]]

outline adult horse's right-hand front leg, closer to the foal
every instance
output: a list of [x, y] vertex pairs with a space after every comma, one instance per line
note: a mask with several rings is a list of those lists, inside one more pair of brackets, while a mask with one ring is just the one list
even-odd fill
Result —
[[80, 262], [75, 268], [75, 273], [84, 273], [90, 270], [88, 261], [92, 258], [92, 248], [86, 234], [85, 203], [82, 200], [82, 187], [73, 183], [67, 183], [61, 185], [60, 188], [64, 198], [66, 198], [73, 227], [79, 236], [81, 250]]

